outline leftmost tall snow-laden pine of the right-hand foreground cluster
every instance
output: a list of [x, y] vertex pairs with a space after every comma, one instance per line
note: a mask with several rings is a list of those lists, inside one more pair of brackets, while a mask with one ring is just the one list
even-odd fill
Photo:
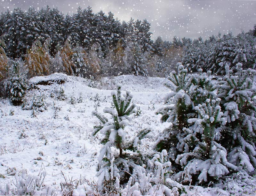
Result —
[[[188, 119], [196, 117], [195, 105], [217, 97], [212, 92], [214, 88], [210, 71], [203, 73], [203, 70], [199, 69], [197, 74], [188, 74], [188, 70], [184, 69], [181, 63], [177, 66], [178, 74], [172, 71], [167, 78], [170, 80], [167, 86], [173, 92], [164, 98], [167, 104], [156, 111], [156, 114], [162, 115], [162, 122], [171, 122], [172, 125], [159, 133], [155, 148], [158, 151], [166, 149], [172, 161], [172, 168], [180, 170], [180, 166], [174, 162], [177, 155], [189, 152], [195, 147], [195, 139], [188, 136], [188, 132], [183, 128], [189, 128]], [[186, 141], [183, 138], [186, 138]]]

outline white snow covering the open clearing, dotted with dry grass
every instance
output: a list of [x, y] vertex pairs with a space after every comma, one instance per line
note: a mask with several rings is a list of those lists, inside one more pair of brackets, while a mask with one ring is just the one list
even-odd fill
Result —
[[[30, 82], [38, 85], [28, 90], [27, 100], [32, 102], [34, 94], [44, 92], [48, 110], [32, 118], [31, 110], [22, 110], [20, 106], [0, 99], [0, 174], [5, 177], [0, 177], [0, 188], [7, 182], [14, 182], [15, 169], [17, 172], [26, 169], [36, 176], [40, 170], [45, 170], [47, 175], [44, 183], [59, 191], [60, 182], [64, 181], [62, 172], [70, 179], [97, 179], [96, 165], [101, 144], [100, 137], [92, 137], [91, 132], [99, 121], [91, 113], [97, 103], [100, 105], [97, 110], [101, 113], [105, 106], [111, 106], [110, 93], [117, 83], [123, 84], [122, 90], [132, 90], [133, 102], [141, 110], [141, 114], [134, 114], [130, 126], [125, 128], [128, 137], [132, 139], [135, 133], [148, 127], [153, 128], [153, 134], [156, 135], [169, 126], [168, 123], [161, 124], [160, 115], [154, 114], [161, 106], [164, 95], [169, 92], [164, 87], [164, 78], [122, 75], [93, 83], [91, 80], [56, 73], [32, 78]], [[56, 98], [60, 87], [63, 87], [68, 97], [65, 101]], [[55, 95], [54, 98], [50, 96], [51, 93]], [[72, 105], [70, 96], [79, 98], [80, 93], [84, 101]], [[59, 119], [53, 118], [53, 101], [61, 107]], [[9, 115], [10, 110], [14, 110], [13, 116]], [[64, 118], [67, 116], [69, 121]], [[153, 141], [154, 137], [144, 139], [142, 148], [150, 149]]]

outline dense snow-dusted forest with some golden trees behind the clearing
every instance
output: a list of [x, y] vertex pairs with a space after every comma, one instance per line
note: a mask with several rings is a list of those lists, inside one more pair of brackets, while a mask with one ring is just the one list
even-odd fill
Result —
[[40, 11], [8, 10], [0, 16], [0, 78], [8, 75], [8, 59], [17, 58], [24, 61], [28, 77], [53, 72], [85, 78], [167, 76], [177, 62], [189, 71], [202, 68], [223, 74], [226, 64], [231, 68], [238, 62], [256, 65], [256, 25], [247, 33], [229, 32], [207, 40], [174, 36], [173, 41], [161, 37], [153, 41], [151, 34], [146, 19], [121, 23], [113, 13], [93, 13], [91, 7], [78, 7], [72, 16], [49, 6]]

